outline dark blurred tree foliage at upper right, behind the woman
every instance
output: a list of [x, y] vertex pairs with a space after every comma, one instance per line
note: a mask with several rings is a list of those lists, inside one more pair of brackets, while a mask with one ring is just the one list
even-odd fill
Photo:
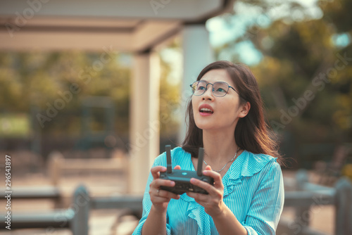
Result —
[[[352, 16], [348, 0], [318, 1], [311, 11], [296, 1], [237, 1], [258, 15], [216, 52], [241, 61], [242, 43], [253, 44], [262, 60], [251, 65], [273, 129], [303, 143], [352, 141]], [[225, 15], [228, 25], [238, 19]], [[288, 9], [285, 13], [279, 9]], [[318, 15], [318, 16], [316, 16]], [[264, 19], [264, 20], [263, 20]], [[266, 21], [265, 21], [266, 20]], [[266, 23], [263, 23], [265, 21]], [[286, 133], [286, 134], [285, 134]], [[294, 144], [291, 143], [291, 144]], [[296, 152], [297, 153], [297, 152]], [[293, 153], [287, 155], [292, 156]]]

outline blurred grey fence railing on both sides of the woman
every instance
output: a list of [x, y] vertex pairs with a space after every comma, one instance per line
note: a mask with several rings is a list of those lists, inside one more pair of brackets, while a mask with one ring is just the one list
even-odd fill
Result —
[[[293, 207], [296, 211], [294, 220], [287, 220], [282, 217], [277, 229], [278, 235], [321, 235], [320, 231], [315, 231], [310, 225], [310, 214], [316, 205], [334, 205], [335, 221], [334, 234], [352, 234], [352, 184], [348, 179], [339, 179], [334, 188], [310, 184], [307, 173], [303, 170], [296, 174], [296, 191], [285, 192], [285, 207]], [[289, 183], [287, 183], [289, 184]], [[44, 192], [44, 193], [43, 193]], [[16, 194], [13, 189], [13, 198], [54, 198], [57, 200], [57, 189], [53, 192], [48, 190], [21, 191]], [[44, 196], [46, 194], [46, 196]], [[11, 217], [11, 229], [44, 228], [63, 229], [68, 228], [73, 235], [88, 234], [89, 211], [94, 209], [121, 209], [122, 215], [142, 215], [142, 196], [119, 196], [119, 197], [97, 197], [89, 196], [85, 186], [78, 186], [73, 195], [73, 202], [68, 209], [50, 210], [45, 212], [14, 212]]]

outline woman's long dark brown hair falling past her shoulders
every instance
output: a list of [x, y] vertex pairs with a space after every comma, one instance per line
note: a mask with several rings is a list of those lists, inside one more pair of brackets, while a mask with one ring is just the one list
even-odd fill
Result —
[[[231, 63], [229, 61], [216, 61], [210, 63], [201, 70], [197, 81], [210, 70], [224, 69], [230, 75], [240, 96], [240, 104], [247, 101], [251, 103], [249, 113], [244, 118], [239, 118], [234, 139], [239, 148], [251, 153], [265, 153], [277, 158], [278, 163], [282, 163], [282, 156], [278, 152], [278, 143], [270, 136], [275, 136], [269, 132], [268, 125], [264, 120], [263, 101], [260, 97], [258, 83], [249, 68], [242, 63]], [[198, 157], [199, 147], [203, 147], [203, 130], [199, 129], [194, 122], [192, 101], [187, 106], [188, 129], [186, 138], [182, 143], [184, 151], [191, 153], [192, 157]]]

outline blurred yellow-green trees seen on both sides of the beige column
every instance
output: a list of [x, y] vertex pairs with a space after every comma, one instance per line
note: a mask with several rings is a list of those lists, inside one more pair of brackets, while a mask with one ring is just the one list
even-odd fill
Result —
[[[163, 51], [169, 54], [163, 56]], [[79, 136], [84, 98], [108, 96], [115, 104], [114, 131], [127, 136], [132, 56], [112, 54], [109, 55], [111, 60], [103, 63], [102, 53], [1, 52], [0, 112], [4, 115], [29, 114], [31, 108], [37, 108], [33, 109], [34, 122], [39, 125], [42, 134]], [[161, 135], [163, 138], [175, 137], [179, 127], [180, 77], [172, 75], [177, 68], [165, 58], [170, 53], [174, 54], [173, 58], [181, 55], [180, 42], [175, 40], [158, 53], [161, 57]], [[104, 113], [99, 113], [99, 108], [93, 111], [98, 115], [91, 120], [91, 126], [93, 129], [102, 129]]]

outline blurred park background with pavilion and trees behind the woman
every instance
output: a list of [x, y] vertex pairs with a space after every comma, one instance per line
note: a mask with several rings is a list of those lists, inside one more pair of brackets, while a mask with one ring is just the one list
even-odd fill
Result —
[[[153, 159], [182, 143], [189, 84], [218, 60], [256, 75], [287, 191], [300, 169], [327, 191], [351, 180], [351, 10], [348, 0], [1, 1], [0, 178], [5, 187], [10, 155], [11, 210], [55, 217], [82, 184], [92, 198], [142, 196]], [[285, 208], [291, 229], [280, 234], [337, 234], [327, 204], [306, 207], [306, 225]], [[130, 234], [138, 215], [120, 212], [90, 210], [89, 234]], [[50, 226], [13, 234], [75, 234]]]

